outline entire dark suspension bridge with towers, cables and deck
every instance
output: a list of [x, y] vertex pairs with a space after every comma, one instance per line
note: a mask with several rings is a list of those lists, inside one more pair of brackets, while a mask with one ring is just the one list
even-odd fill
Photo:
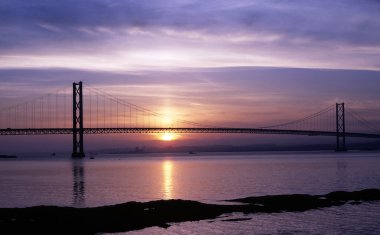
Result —
[[[87, 85], [87, 84], [86, 84]], [[336, 103], [306, 117], [277, 125], [236, 128], [204, 125], [154, 112], [83, 83], [0, 109], [0, 135], [72, 134], [73, 157], [84, 157], [85, 134], [240, 133], [334, 136], [336, 151], [346, 137], [380, 139], [376, 125]], [[85, 100], [85, 102], [84, 102]], [[86, 106], [84, 105], [86, 104]]]

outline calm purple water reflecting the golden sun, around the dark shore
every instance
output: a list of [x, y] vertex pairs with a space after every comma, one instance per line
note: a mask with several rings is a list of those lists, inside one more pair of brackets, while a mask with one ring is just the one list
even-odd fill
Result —
[[[98, 154], [83, 160], [65, 155], [0, 160], [0, 207], [95, 207], [159, 199], [223, 204], [249, 196], [367, 188], [380, 188], [380, 153]], [[233, 213], [129, 233], [380, 234], [380, 202], [306, 212]]]

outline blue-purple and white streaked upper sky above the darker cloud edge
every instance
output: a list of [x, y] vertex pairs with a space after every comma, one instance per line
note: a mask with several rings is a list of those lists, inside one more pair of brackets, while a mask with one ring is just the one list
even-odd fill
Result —
[[0, 64], [380, 67], [376, 0], [0, 1]]

